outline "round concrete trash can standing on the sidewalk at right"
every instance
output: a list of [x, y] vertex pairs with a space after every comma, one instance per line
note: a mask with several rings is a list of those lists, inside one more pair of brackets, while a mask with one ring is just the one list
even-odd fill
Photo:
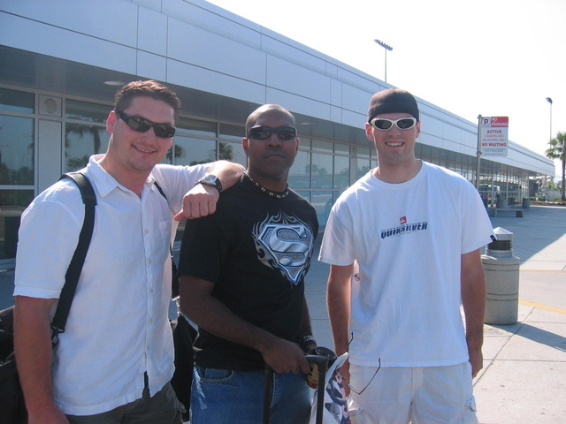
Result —
[[519, 308], [519, 263], [513, 255], [513, 233], [493, 230], [495, 241], [486, 246], [481, 261], [486, 271], [486, 324], [509, 325], [517, 321]]

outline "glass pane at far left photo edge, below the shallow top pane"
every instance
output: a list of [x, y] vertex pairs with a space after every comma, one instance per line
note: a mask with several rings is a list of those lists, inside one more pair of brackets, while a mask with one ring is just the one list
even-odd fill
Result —
[[34, 185], [34, 119], [31, 117], [0, 115], [0, 184]]

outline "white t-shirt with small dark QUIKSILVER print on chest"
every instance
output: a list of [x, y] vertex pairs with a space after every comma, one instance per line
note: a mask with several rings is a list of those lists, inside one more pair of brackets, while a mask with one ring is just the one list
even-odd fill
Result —
[[463, 177], [424, 163], [387, 184], [371, 172], [333, 206], [319, 261], [352, 277], [349, 360], [435, 367], [468, 360], [460, 314], [461, 255], [491, 241], [492, 225]]

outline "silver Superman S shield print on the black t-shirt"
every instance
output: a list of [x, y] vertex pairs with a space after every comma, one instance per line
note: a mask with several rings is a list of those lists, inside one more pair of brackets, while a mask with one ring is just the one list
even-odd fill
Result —
[[279, 269], [294, 285], [299, 284], [309, 268], [313, 247], [309, 225], [279, 212], [256, 223], [252, 235], [258, 259], [267, 267]]

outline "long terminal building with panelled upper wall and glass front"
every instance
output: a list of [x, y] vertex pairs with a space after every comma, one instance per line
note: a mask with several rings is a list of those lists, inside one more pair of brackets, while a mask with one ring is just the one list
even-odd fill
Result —
[[[34, 196], [105, 152], [105, 118], [126, 82], [157, 79], [183, 112], [166, 163], [245, 164], [246, 117], [264, 103], [294, 113], [301, 148], [289, 186], [324, 226], [340, 193], [377, 165], [363, 125], [391, 87], [203, 0], [26, 0], [0, 4], [0, 264], [13, 262]], [[476, 182], [478, 124], [417, 98], [417, 156]], [[551, 160], [509, 141], [482, 158], [478, 189], [520, 202]]]

